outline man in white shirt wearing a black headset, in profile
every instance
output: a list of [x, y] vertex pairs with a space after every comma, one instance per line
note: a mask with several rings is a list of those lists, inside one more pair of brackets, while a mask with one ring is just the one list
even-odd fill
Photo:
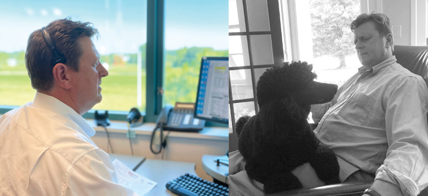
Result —
[[29, 36], [25, 64], [37, 93], [0, 117], [0, 195], [136, 195], [118, 185], [81, 116], [101, 101], [108, 75], [90, 24], [59, 19]]

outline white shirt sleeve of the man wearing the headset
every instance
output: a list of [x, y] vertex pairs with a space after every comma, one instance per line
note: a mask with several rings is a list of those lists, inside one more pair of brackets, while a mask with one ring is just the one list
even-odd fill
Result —
[[118, 184], [116, 172], [108, 155], [93, 150], [70, 168], [64, 180], [63, 196], [138, 196]]

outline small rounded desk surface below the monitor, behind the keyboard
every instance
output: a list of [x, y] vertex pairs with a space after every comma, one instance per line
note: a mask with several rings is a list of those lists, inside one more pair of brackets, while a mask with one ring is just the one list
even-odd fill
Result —
[[[214, 161], [215, 158], [220, 156], [215, 155], [204, 155], [202, 156], [202, 167], [208, 175], [212, 176], [215, 180], [229, 184], [229, 176], [225, 176], [226, 173], [229, 173], [229, 166], [224, 164], [219, 164]], [[224, 156], [225, 159], [228, 159], [227, 156]]]

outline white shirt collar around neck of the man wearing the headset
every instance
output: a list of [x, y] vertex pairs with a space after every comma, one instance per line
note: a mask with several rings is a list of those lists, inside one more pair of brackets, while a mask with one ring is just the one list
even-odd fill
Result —
[[43, 108], [48, 111], [52, 111], [59, 115], [62, 115], [82, 128], [83, 131], [89, 136], [92, 137], [95, 135], [95, 130], [92, 128], [88, 122], [79, 115], [73, 108], [62, 102], [61, 100], [54, 98], [52, 96], [48, 96], [46, 94], [36, 92], [36, 96], [34, 97], [32, 106], [37, 108]]

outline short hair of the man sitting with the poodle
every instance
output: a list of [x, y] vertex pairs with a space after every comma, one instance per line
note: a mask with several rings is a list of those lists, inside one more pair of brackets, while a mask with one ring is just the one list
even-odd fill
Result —
[[[357, 16], [357, 18], [351, 22], [352, 32], [354, 32], [355, 28], [368, 21], [373, 21], [375, 29], [379, 32], [380, 36], [386, 37], [389, 33], [393, 35], [391, 20], [389, 17], [386, 14], [374, 12], [371, 12], [370, 14], [362, 13]], [[394, 51], [394, 40], [391, 47], [392, 51]]]

